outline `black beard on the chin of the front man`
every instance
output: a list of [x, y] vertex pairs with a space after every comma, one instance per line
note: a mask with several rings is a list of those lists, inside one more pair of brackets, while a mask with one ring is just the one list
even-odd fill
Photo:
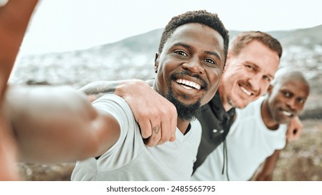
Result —
[[[182, 98], [187, 99], [187, 97], [185, 96], [183, 96]], [[166, 99], [175, 105], [175, 108], [177, 109], [178, 118], [181, 118], [182, 120], [191, 121], [196, 119], [200, 115], [200, 99], [192, 104], [184, 104], [180, 102], [180, 100], [175, 98], [175, 95], [173, 95], [172, 88], [169, 88], [168, 95], [166, 95]]]

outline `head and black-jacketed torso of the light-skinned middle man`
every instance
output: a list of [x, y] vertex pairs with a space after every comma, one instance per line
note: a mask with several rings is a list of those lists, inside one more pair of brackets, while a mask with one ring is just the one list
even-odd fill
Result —
[[259, 31], [243, 32], [232, 40], [219, 89], [198, 117], [203, 136], [193, 170], [225, 142], [235, 118], [235, 107], [243, 108], [266, 93], [279, 66], [281, 52], [278, 40]]

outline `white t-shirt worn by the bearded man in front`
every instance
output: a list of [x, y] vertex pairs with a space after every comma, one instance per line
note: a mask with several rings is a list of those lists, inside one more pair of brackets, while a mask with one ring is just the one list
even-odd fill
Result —
[[120, 137], [106, 153], [77, 162], [71, 180], [190, 180], [201, 137], [198, 120], [185, 135], [177, 129], [174, 142], [148, 147], [128, 104], [117, 95], [93, 102], [96, 109], [114, 116]]

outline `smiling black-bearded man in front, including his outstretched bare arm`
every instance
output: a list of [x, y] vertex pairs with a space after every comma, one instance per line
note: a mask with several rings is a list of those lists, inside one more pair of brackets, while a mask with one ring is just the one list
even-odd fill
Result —
[[[91, 105], [73, 88], [8, 86], [1, 114], [19, 159], [78, 159], [72, 180], [190, 180], [201, 137], [193, 119], [219, 87], [228, 42], [217, 14], [205, 10], [167, 24], [154, 61], [153, 89], [178, 111], [177, 139], [153, 148], [145, 145], [129, 104], [117, 95]], [[152, 124], [152, 131], [158, 134], [162, 125]]]

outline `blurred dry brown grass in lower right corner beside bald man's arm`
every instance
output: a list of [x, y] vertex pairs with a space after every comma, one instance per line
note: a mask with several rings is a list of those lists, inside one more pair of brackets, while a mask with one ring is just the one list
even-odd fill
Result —
[[322, 123], [304, 120], [298, 141], [288, 143], [274, 172], [274, 180], [322, 181]]

